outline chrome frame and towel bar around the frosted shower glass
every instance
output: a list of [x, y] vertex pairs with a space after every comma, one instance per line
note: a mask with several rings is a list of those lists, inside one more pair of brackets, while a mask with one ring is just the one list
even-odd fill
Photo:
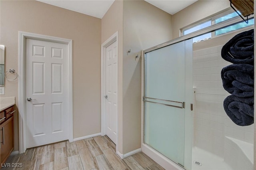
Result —
[[[180, 41], [182, 42], [182, 41]], [[174, 44], [174, 43], [173, 43]], [[172, 44], [170, 44], [172, 45]], [[171, 100], [164, 100], [164, 99], [157, 99], [153, 97], [146, 96], [146, 52], [143, 53], [144, 61], [142, 62], [142, 100], [144, 101], [142, 103], [142, 151], [148, 154], [148, 156], [155, 158], [155, 161], [157, 162], [159, 156], [163, 158], [165, 162], [169, 162], [172, 164], [173, 167], [177, 169], [191, 169], [191, 157], [192, 157], [192, 124], [193, 124], [193, 115], [192, 111], [190, 110], [190, 107], [185, 107], [185, 103], [187, 106], [190, 105], [190, 103], [193, 102], [193, 89], [192, 89], [192, 39], [186, 40], [184, 43], [186, 50], [184, 52], [185, 55], [185, 100], [184, 101], [171, 101]], [[169, 45], [167, 45], [169, 46]], [[165, 47], [165, 46], [164, 46]], [[162, 47], [161, 47], [162, 48]], [[153, 49], [156, 50], [156, 49]], [[151, 51], [153, 51], [151, 50]], [[147, 51], [147, 53], [150, 51]], [[188, 83], [190, 82], [190, 83]], [[146, 103], [155, 103], [158, 105], [164, 105], [167, 107], [175, 107], [178, 109], [184, 109], [185, 115], [184, 115], [184, 162], [183, 164], [179, 164], [178, 162], [174, 162], [170, 160], [168, 157], [164, 156], [154, 148], [150, 147], [148, 144], [145, 143], [145, 126], [146, 126], [146, 118], [145, 118], [145, 107]], [[150, 153], [151, 152], [151, 153]], [[154, 153], [153, 153], [154, 152]], [[152, 155], [152, 153], [155, 155]], [[160, 162], [163, 162], [163, 160], [160, 160]], [[158, 162], [161, 166], [165, 166], [166, 163], [161, 164]], [[170, 168], [170, 164], [164, 168]]]

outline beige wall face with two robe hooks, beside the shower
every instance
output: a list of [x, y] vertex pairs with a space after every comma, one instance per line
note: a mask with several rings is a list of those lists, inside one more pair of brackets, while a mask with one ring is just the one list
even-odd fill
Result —
[[[123, 146], [124, 154], [141, 144], [141, 55], [172, 39], [172, 16], [144, 0], [124, 1]], [[131, 49], [130, 53], [127, 51]], [[135, 60], [135, 56], [139, 58]]]

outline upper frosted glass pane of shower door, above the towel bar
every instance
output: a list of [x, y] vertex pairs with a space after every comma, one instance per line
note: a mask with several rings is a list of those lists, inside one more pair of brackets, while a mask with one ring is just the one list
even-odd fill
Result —
[[182, 102], [185, 99], [185, 42], [146, 53], [146, 97]]

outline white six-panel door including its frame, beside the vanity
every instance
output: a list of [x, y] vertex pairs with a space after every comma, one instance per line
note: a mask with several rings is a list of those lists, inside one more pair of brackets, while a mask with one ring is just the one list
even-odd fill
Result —
[[19, 152], [72, 142], [72, 40], [19, 32], [18, 86]]

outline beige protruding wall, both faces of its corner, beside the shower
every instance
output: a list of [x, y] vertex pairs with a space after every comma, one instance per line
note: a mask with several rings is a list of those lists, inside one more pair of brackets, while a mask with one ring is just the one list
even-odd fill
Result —
[[126, 154], [140, 148], [141, 57], [135, 55], [172, 39], [171, 15], [143, 0], [115, 1], [102, 18], [101, 42], [117, 31], [118, 151]]

